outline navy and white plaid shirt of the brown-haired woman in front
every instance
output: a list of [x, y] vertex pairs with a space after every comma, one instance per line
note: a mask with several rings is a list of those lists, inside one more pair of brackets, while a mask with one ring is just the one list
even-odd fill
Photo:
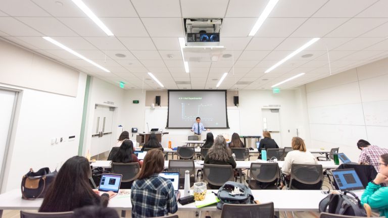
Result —
[[131, 188], [132, 217], [155, 217], [178, 210], [174, 187], [170, 180], [153, 174], [135, 180]]

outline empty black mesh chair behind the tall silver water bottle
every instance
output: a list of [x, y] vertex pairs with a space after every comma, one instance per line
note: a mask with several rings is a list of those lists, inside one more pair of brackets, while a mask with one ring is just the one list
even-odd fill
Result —
[[179, 172], [179, 189], [184, 189], [185, 171], [188, 170], [190, 174], [190, 187], [193, 186], [196, 178], [196, 168], [194, 167], [194, 160], [169, 160], [168, 171]]

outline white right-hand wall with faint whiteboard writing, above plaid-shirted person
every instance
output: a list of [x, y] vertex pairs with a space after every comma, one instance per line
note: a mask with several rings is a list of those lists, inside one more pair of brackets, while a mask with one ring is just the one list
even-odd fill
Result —
[[356, 143], [388, 147], [388, 59], [306, 84], [314, 147], [340, 147], [358, 161]]

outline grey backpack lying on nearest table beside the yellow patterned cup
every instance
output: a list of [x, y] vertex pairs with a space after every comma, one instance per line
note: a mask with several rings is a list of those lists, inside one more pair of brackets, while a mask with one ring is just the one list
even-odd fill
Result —
[[[237, 187], [240, 189], [242, 194], [239, 195], [232, 195], [230, 194], [232, 190], [234, 190], [234, 187]], [[251, 204], [255, 203], [253, 201], [253, 195], [252, 191], [248, 186], [241, 184], [241, 183], [236, 183], [236, 182], [231, 182], [228, 181], [226, 182], [223, 186], [221, 186], [220, 189], [218, 189], [217, 193], [218, 199], [220, 201], [217, 203], [217, 208], [222, 209], [222, 206], [224, 203], [231, 203], [231, 204]]]

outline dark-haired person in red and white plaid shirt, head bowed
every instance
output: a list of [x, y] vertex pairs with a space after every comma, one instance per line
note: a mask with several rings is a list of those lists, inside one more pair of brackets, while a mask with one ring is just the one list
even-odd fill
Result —
[[388, 153], [388, 149], [380, 148], [376, 145], [370, 145], [368, 141], [360, 139], [357, 142], [358, 149], [361, 150], [358, 162], [360, 164], [372, 165], [376, 169], [377, 173], [380, 172], [379, 156], [384, 153]]

